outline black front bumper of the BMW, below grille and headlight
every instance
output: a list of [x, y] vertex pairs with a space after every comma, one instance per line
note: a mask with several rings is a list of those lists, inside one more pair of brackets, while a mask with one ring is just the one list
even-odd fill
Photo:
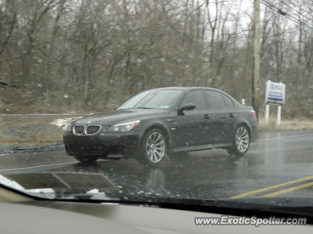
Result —
[[144, 131], [114, 133], [100, 131], [96, 135], [74, 135], [66, 132], [63, 142], [67, 155], [96, 155], [106, 158], [109, 154], [132, 157], [138, 152]]

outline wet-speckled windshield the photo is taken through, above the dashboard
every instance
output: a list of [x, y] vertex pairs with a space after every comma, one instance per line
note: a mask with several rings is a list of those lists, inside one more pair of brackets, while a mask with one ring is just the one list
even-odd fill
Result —
[[312, 163], [312, 0], [0, 0], [0, 184], [305, 200]]

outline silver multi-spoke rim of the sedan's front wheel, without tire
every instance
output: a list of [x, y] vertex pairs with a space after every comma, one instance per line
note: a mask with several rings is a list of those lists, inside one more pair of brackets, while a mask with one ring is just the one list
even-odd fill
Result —
[[165, 141], [160, 133], [152, 133], [146, 143], [147, 155], [150, 161], [159, 162], [165, 153]]

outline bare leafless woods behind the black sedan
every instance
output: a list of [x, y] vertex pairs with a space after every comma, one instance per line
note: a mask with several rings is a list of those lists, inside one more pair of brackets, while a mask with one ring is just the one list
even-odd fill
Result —
[[[311, 0], [261, 0], [260, 112], [313, 115]], [[166, 86], [219, 88], [251, 105], [253, 1], [0, 0], [0, 112], [104, 111]]]

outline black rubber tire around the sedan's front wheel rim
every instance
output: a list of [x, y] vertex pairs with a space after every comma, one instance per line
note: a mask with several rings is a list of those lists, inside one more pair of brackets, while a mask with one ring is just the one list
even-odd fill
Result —
[[[151, 155], [148, 156], [148, 152], [147, 152], [147, 149], [149, 148], [147, 146], [148, 143], [149, 143], [148, 139], [153, 134], [157, 134], [156, 136], [161, 136], [163, 138], [163, 140], [164, 140], [164, 145], [162, 143], [162, 149], [164, 148], [164, 151], [162, 153], [162, 156], [160, 156], [160, 159], [159, 160], [156, 159], [156, 162], [154, 162], [153, 159], [150, 158]], [[152, 149], [150, 149], [150, 151], [151, 150]], [[156, 147], [153, 150], [157, 150]], [[139, 150], [138, 154], [135, 156], [135, 158], [136, 158], [137, 162], [142, 164], [142, 165], [149, 166], [151, 168], [156, 168], [156, 167], [159, 167], [162, 164], [162, 162], [163, 162], [163, 160], [164, 160], [164, 158], [166, 156], [166, 150], [167, 150], [167, 142], [166, 142], [165, 134], [161, 130], [159, 130], [157, 128], [154, 128], [154, 129], [151, 129], [150, 131], [148, 131], [145, 134], [145, 136], [143, 137], [143, 140], [142, 140], [142, 143], [141, 143], [141, 146], [140, 146], [140, 150]], [[152, 157], [154, 158], [154, 155]]]

